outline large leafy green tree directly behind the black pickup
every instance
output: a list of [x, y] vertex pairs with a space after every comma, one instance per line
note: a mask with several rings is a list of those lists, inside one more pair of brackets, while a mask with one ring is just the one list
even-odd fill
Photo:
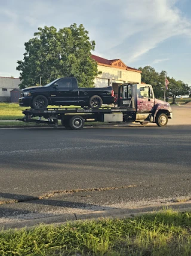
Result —
[[24, 60], [17, 61], [16, 68], [20, 71], [21, 89], [39, 84], [40, 77], [42, 85], [59, 77], [75, 76], [79, 86], [94, 86], [99, 74], [97, 62], [91, 59], [95, 41], [90, 41], [83, 25], [74, 23], [58, 31], [54, 26], [38, 28], [24, 46]]

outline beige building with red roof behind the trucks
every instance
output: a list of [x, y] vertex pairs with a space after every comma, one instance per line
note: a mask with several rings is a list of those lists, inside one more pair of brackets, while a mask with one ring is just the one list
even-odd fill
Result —
[[115, 94], [121, 83], [141, 83], [141, 71], [128, 67], [121, 59], [104, 59], [96, 55], [91, 58], [97, 62], [98, 71], [102, 74], [94, 80], [96, 87], [112, 86]]

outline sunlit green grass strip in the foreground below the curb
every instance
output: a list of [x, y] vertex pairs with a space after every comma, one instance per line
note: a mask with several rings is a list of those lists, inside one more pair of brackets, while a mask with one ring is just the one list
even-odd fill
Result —
[[40, 225], [0, 232], [1, 255], [191, 255], [191, 213]]

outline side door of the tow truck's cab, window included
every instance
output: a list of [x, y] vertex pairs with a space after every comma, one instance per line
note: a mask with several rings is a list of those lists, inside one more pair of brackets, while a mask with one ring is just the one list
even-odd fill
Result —
[[154, 107], [154, 93], [151, 86], [138, 86], [137, 88], [137, 112], [152, 112]]

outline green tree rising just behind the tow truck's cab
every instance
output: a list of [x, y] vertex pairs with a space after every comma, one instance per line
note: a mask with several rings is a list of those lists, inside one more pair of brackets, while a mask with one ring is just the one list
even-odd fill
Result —
[[153, 86], [156, 98], [161, 98], [164, 95], [165, 76], [167, 72], [162, 70], [161, 73], [155, 71], [155, 68], [146, 66], [144, 68], [138, 68], [142, 71], [141, 81]]

